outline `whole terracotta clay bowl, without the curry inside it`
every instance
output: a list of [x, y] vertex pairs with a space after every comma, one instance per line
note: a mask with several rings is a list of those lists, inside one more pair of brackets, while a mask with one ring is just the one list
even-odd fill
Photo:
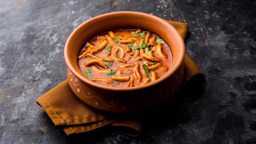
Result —
[[[155, 82], [131, 88], [102, 86], [84, 77], [78, 67], [80, 49], [95, 35], [114, 29], [142, 29], [160, 36], [173, 54], [167, 73]], [[69, 85], [75, 95], [96, 109], [112, 113], [149, 110], [172, 97], [183, 80], [184, 55], [185, 44], [172, 25], [147, 13], [126, 11], [106, 13], [83, 22], [70, 34], [64, 50]]]

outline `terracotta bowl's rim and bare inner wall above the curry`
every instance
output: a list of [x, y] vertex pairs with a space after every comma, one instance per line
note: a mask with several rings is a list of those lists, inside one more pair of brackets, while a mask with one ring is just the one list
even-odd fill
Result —
[[[141, 29], [151, 31], [163, 39], [170, 47], [173, 55], [173, 62], [168, 72], [156, 80], [154, 83], [149, 83], [144, 86], [132, 88], [115, 88], [102, 86], [86, 79], [78, 66], [78, 55], [84, 44], [98, 34], [115, 29]], [[65, 44], [64, 57], [70, 71], [76, 75], [82, 82], [88, 83], [91, 86], [111, 89], [114, 91], [131, 91], [144, 87], [149, 87], [157, 84], [172, 75], [182, 64], [185, 55], [185, 45], [183, 39], [168, 22], [159, 17], [141, 12], [113, 12], [106, 13], [94, 17], [86, 22], [83, 22], [77, 29], [70, 34]]]

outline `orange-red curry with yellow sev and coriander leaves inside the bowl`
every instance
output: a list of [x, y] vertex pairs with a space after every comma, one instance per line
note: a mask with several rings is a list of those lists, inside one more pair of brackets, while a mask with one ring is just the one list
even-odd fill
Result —
[[109, 87], [136, 87], [163, 77], [172, 52], [149, 31], [121, 29], [91, 39], [80, 51], [78, 65], [92, 82]]

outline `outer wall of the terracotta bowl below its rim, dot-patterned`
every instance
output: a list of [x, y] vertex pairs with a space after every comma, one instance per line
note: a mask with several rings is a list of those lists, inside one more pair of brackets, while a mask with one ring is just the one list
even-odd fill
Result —
[[111, 113], [138, 113], [152, 109], [172, 97], [181, 87], [183, 65], [168, 79], [137, 91], [110, 91], [83, 83], [68, 69], [69, 86], [89, 106]]

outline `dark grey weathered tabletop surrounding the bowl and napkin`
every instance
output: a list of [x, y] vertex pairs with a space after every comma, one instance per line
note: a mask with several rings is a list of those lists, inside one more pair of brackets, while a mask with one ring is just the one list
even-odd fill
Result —
[[[137, 138], [106, 130], [66, 137], [35, 100], [66, 79], [71, 31], [114, 11], [187, 22], [186, 52], [206, 83], [174, 98]], [[252, 0], [0, 1], [0, 143], [256, 143], [255, 25]]]

